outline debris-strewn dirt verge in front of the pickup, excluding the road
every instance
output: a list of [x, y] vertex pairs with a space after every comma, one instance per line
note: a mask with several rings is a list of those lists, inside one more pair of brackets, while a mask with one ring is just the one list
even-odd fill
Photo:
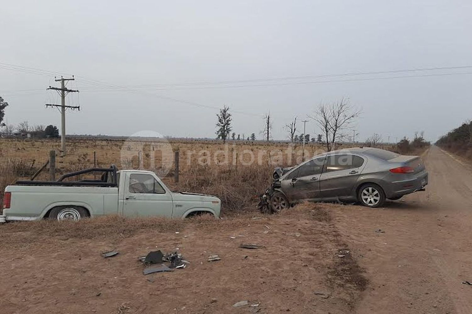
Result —
[[[2, 226], [1, 313], [249, 313], [251, 306], [232, 307], [242, 300], [259, 304], [259, 313], [352, 311], [367, 282], [350, 253], [336, 256], [350, 249], [328, 211], [310, 205], [253, 216]], [[107, 248], [120, 253], [101, 258]], [[191, 262], [185, 269], [143, 275], [139, 256], [177, 248]], [[208, 262], [211, 253], [221, 260]]]

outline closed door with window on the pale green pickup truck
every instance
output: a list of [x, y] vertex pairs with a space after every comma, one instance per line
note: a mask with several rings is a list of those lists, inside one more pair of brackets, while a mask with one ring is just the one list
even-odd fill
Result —
[[149, 173], [127, 173], [123, 216], [172, 217], [172, 195]]

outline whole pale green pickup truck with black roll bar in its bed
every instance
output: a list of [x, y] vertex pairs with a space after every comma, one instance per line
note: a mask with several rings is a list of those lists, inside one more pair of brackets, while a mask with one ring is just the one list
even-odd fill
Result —
[[[64, 180], [89, 172], [101, 179]], [[122, 215], [130, 217], [188, 217], [209, 213], [219, 217], [221, 201], [211, 195], [175, 193], [151, 171], [110, 168], [86, 169], [58, 181], [18, 181], [5, 188], [0, 222], [52, 218]]]

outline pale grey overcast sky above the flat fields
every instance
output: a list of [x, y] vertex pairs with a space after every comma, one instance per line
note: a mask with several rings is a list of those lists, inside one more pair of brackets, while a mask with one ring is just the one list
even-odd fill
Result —
[[[214, 137], [217, 108], [229, 105], [236, 134], [261, 138], [270, 112], [272, 137], [283, 139], [293, 116], [341, 97], [363, 110], [360, 139], [424, 130], [436, 140], [472, 118], [472, 74], [437, 75], [472, 72], [469, 0], [17, 0], [1, 11], [11, 124], [59, 127], [57, 110], [44, 108], [60, 102], [45, 90], [54, 73], [75, 74], [68, 87], [81, 90], [67, 98], [81, 106], [67, 113], [67, 134]], [[458, 66], [471, 67], [316, 77]], [[306, 128], [320, 133], [312, 121]]]

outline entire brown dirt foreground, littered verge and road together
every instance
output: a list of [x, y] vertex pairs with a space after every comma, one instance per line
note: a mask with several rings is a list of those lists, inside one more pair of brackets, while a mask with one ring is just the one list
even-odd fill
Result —
[[[437, 147], [424, 160], [427, 192], [383, 209], [315, 204], [257, 220], [254, 212], [0, 226], [1, 313], [249, 313], [232, 307], [248, 300], [259, 313], [470, 314], [472, 287], [461, 282], [472, 282], [471, 167]], [[100, 257], [115, 247], [118, 256]], [[191, 264], [143, 276], [136, 258], [156, 247], [179, 248]], [[340, 249], [349, 255], [337, 257]], [[207, 262], [210, 253], [222, 260]]]

